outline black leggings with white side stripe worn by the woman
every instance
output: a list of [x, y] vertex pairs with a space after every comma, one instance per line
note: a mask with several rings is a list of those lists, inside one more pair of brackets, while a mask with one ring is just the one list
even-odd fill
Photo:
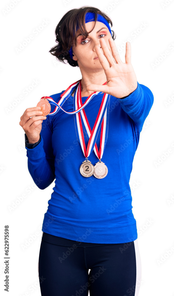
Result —
[[137, 240], [93, 244], [43, 232], [38, 269], [42, 296], [137, 296], [141, 283]]

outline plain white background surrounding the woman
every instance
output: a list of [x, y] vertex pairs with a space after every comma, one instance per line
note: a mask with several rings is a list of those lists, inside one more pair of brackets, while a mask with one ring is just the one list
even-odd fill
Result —
[[[123, 62], [124, 44], [131, 38], [131, 63], [137, 81], [149, 87], [154, 95], [154, 104], [140, 134], [130, 179], [132, 210], [137, 222], [142, 263], [139, 296], [173, 296], [174, 46], [171, 44], [174, 45], [174, 1], [167, 0], [166, 5], [162, 5], [165, 0], [117, 2], [115, 4], [116, 1], [113, 0], [88, 0], [87, 5], [98, 7], [112, 19], [112, 29], [116, 32], [115, 44], [118, 49], [122, 48], [119, 52]], [[19, 126], [19, 121], [25, 109], [36, 106], [42, 96], [59, 93], [81, 78], [78, 67], [58, 62], [49, 50], [56, 45], [54, 31], [63, 15], [70, 9], [86, 5], [86, 1], [15, 0], [14, 3], [15, 5], [12, 5], [12, 1], [5, 0], [0, 4], [0, 292], [1, 295], [7, 295], [4, 291], [3, 262], [4, 225], [8, 224], [8, 295], [22, 296], [28, 292], [28, 295], [39, 296], [38, 257], [41, 226], [54, 182], [44, 190], [34, 185], [27, 168], [25, 132]], [[47, 20], [48, 24], [42, 27], [37, 36], [34, 35], [33, 30], [41, 26], [44, 20]], [[141, 30], [142, 23], [145, 23], [146, 27]], [[134, 31], [137, 32], [136, 37]], [[34, 38], [17, 52], [20, 44], [30, 35]], [[25, 95], [25, 89], [30, 87], [34, 80], [38, 81], [37, 86]], [[21, 95], [23, 99], [17, 100]], [[166, 105], [165, 102], [168, 102], [169, 98], [170, 103]], [[17, 104], [14, 103], [15, 100]], [[12, 110], [9, 109], [10, 106]], [[164, 153], [167, 155], [168, 149], [171, 149], [170, 153], [164, 156]], [[26, 194], [26, 197], [10, 210], [22, 194]], [[149, 220], [151, 224], [148, 223]], [[23, 249], [22, 245], [29, 239], [32, 241], [31, 236], [35, 239]], [[167, 255], [171, 249], [171, 255]]]

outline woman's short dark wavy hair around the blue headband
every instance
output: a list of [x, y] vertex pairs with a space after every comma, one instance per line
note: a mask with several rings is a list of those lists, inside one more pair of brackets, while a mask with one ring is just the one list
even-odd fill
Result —
[[[87, 38], [88, 36], [88, 32], [85, 29], [85, 15], [87, 12], [95, 13], [95, 24], [97, 20], [97, 14], [99, 14], [102, 15], [112, 27], [112, 20], [110, 19], [110, 17], [108, 17], [108, 15], [106, 15], [104, 12], [96, 7], [82, 6], [80, 8], [74, 8], [66, 12], [66, 14], [61, 18], [55, 30], [56, 42], [58, 44], [53, 46], [49, 52], [53, 56], [56, 56], [56, 59], [58, 61], [63, 62], [64, 64], [67, 64], [68, 62], [69, 65], [71, 65], [72, 67], [79, 66], [77, 61], [71, 59], [69, 49], [71, 48], [74, 41], [75, 45], [77, 45], [76, 28], [80, 29], [81, 34], [84, 38]], [[82, 24], [82, 26], [79, 26], [79, 24]], [[94, 27], [92, 28], [92, 30], [94, 29]], [[90, 32], [92, 32], [92, 30]], [[113, 33], [112, 38], [113, 40], [115, 40], [116, 34], [113, 30], [111, 30], [111, 32]]]

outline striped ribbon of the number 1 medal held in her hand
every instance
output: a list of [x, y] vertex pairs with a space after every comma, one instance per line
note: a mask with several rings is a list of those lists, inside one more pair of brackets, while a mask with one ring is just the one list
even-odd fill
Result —
[[[77, 87], [77, 85], [79, 85], [79, 82], [81, 82], [82, 79], [72, 83], [64, 92], [63, 94], [61, 94], [61, 99], [58, 101], [58, 104], [56, 102], [54, 102], [54, 100], [51, 98], [51, 97], [45, 97], [49, 102], [50, 104], [53, 104], [55, 105], [55, 109], [53, 112], [50, 112], [48, 115], [55, 115], [58, 110], [62, 110], [64, 111], [65, 113], [67, 114], [75, 114], [75, 113], [78, 113], [79, 111], [81, 111], [89, 102], [90, 100], [97, 94], [102, 94], [101, 91], [95, 91], [94, 93], [92, 93], [87, 99], [86, 101], [84, 102], [84, 104], [82, 104], [81, 107], [79, 107], [77, 110], [74, 110], [73, 112], [67, 112], [65, 111], [61, 106], [64, 104], [64, 102], [66, 101], [66, 99], [69, 98], [69, 96], [73, 93], [74, 89]], [[107, 83], [107, 82], [105, 82]], [[104, 83], [104, 84], [105, 84]], [[76, 89], [77, 90], [77, 89]]]

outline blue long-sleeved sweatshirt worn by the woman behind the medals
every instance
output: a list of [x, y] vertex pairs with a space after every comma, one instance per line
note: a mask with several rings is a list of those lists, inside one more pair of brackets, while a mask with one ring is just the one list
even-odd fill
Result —
[[[124, 99], [110, 96], [108, 139], [101, 161], [108, 167], [103, 179], [84, 177], [79, 168], [86, 159], [77, 140], [74, 116], [61, 109], [47, 115], [40, 132], [41, 141], [27, 149], [28, 170], [40, 189], [55, 182], [42, 231], [66, 239], [101, 243], [125, 243], [137, 239], [136, 220], [132, 212], [129, 186], [132, 163], [139, 136], [154, 97], [147, 86], [137, 88]], [[58, 103], [61, 93], [51, 97]], [[91, 130], [103, 94], [94, 96], [84, 107]], [[82, 97], [82, 103], [87, 97]], [[73, 96], [62, 108], [73, 111]], [[55, 106], [51, 104], [51, 112]], [[100, 131], [97, 147], [100, 147]], [[88, 141], [84, 135], [87, 147]], [[88, 160], [98, 162], [92, 151]]]

